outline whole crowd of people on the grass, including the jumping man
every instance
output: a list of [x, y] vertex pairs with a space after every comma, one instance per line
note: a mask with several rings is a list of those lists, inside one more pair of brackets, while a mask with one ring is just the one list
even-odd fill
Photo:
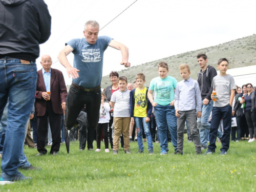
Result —
[[[48, 153], [48, 143], [50, 154], [55, 156], [61, 142], [68, 142], [67, 130], [71, 130], [70, 138], [79, 139], [80, 151], [86, 148], [86, 142], [88, 150], [94, 150], [96, 133], [95, 152], [101, 151], [103, 138], [104, 151], [110, 152], [110, 143], [114, 155], [120, 151], [119, 143], [125, 154], [131, 154], [130, 142], [133, 141], [138, 143], [138, 154], [144, 153], [144, 148], [148, 154], [154, 154], [153, 142], [159, 142], [160, 155], [167, 155], [168, 142], [172, 142], [173, 154], [183, 155], [185, 123], [196, 154], [202, 154], [202, 150], [207, 150], [205, 155], [215, 153], [218, 137], [222, 142], [221, 155], [226, 155], [230, 133], [231, 141], [255, 140], [255, 92], [250, 83], [242, 89], [236, 87], [233, 77], [226, 74], [226, 58], [219, 59], [220, 74], [217, 75], [215, 68], [207, 65], [206, 54], [199, 53], [197, 61], [201, 70], [197, 79], [191, 79], [189, 66], [182, 64], [180, 82], [168, 75], [168, 64], [160, 62], [159, 76], [151, 80], [148, 88], [143, 73], [136, 75], [133, 89], [125, 76], [113, 71], [111, 86], [102, 92], [104, 51], [108, 47], [120, 50], [120, 64], [130, 67], [129, 50], [108, 36], [98, 36], [99, 24], [89, 20], [84, 25], [85, 38], [71, 39], [58, 55], [73, 78], [68, 92], [62, 72], [51, 68], [50, 55], [41, 57], [42, 69], [36, 70], [39, 44], [47, 41], [51, 31], [51, 16], [45, 2], [0, 2], [0, 35], [3, 37], [0, 39], [0, 183], [31, 179], [18, 169], [40, 169], [32, 166], [25, 156], [25, 139], [37, 149], [36, 156]], [[20, 17], [24, 11], [28, 14]], [[20, 23], [29, 25], [20, 26]], [[25, 32], [16, 38], [21, 27]], [[67, 58], [71, 52], [73, 65]], [[232, 120], [236, 126], [231, 124]], [[144, 141], [147, 147], [143, 146]]]

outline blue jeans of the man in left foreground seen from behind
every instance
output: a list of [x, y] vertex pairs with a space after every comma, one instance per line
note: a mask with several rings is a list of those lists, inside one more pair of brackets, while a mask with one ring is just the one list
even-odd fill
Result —
[[35, 99], [36, 63], [22, 64], [19, 59], [0, 60], [0, 118], [9, 96], [7, 129], [2, 158], [2, 174], [18, 174], [19, 157], [25, 137], [25, 124]]

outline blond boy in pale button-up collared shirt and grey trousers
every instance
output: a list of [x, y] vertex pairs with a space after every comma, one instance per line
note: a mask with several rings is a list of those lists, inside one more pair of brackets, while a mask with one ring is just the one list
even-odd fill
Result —
[[[177, 83], [175, 92], [175, 114], [177, 117], [177, 152], [183, 155], [184, 127], [187, 120], [189, 131], [194, 138], [196, 154], [201, 154], [201, 142], [197, 132], [197, 117], [201, 117], [201, 92], [196, 80], [191, 79], [190, 68], [186, 64], [180, 66], [180, 75], [184, 79]], [[196, 111], [196, 108], [198, 111]]]

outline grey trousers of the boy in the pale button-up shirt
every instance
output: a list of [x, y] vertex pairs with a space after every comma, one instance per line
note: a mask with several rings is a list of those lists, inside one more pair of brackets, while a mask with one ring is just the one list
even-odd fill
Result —
[[201, 142], [199, 133], [197, 131], [197, 111], [179, 111], [180, 117], [177, 117], [177, 150], [183, 151], [183, 142], [184, 142], [184, 129], [185, 121], [187, 120], [189, 124], [189, 132], [194, 138], [194, 143], [196, 146], [196, 151], [201, 151]]

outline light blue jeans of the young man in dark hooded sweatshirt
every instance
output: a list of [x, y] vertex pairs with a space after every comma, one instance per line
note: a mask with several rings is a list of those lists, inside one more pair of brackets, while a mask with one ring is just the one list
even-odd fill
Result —
[[[208, 138], [207, 130], [210, 130], [210, 123], [208, 122], [208, 119], [210, 116], [210, 112], [213, 108], [214, 101], [209, 100], [209, 103], [207, 105], [203, 105], [203, 100], [202, 100], [201, 104], [202, 104], [202, 116], [201, 118], [197, 119], [197, 124], [199, 129], [201, 145], [207, 146], [207, 138]], [[223, 133], [218, 131], [217, 137], [222, 138], [222, 135]]]

